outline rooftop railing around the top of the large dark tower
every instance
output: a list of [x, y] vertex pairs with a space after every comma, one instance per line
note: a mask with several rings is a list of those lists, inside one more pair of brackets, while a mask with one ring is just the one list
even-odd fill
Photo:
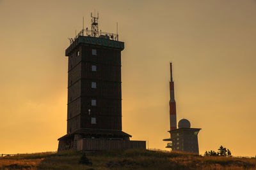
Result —
[[118, 34], [114, 34], [114, 33], [109, 33], [109, 32], [102, 32], [101, 30], [99, 32], [95, 32], [92, 31], [88, 28], [86, 29], [82, 29], [82, 31], [80, 31], [75, 38], [68, 38], [70, 41], [70, 45], [76, 41], [76, 39], [79, 36], [91, 36], [91, 37], [97, 37], [97, 38], [103, 38], [103, 39], [112, 39], [115, 41], [118, 41]]

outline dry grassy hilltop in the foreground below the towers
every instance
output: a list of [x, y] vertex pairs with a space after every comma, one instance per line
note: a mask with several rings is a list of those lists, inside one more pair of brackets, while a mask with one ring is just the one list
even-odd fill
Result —
[[256, 169], [256, 159], [156, 150], [47, 152], [0, 157], [0, 169]]

